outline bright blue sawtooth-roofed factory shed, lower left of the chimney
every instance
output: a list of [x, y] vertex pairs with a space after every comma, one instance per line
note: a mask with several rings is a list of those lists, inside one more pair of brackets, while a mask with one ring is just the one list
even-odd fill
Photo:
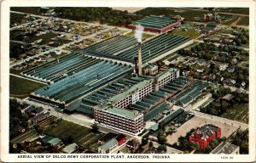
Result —
[[95, 90], [96, 87], [111, 82], [129, 72], [131, 72], [130, 66], [100, 61], [73, 73], [71, 76], [67, 76], [61, 81], [38, 89], [30, 95], [30, 98], [44, 103], [68, 104], [74, 99]]

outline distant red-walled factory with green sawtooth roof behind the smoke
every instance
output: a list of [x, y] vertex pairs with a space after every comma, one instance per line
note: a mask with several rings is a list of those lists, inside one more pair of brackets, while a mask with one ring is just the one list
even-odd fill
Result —
[[144, 17], [143, 20], [136, 21], [133, 25], [127, 25], [126, 27], [135, 30], [137, 25], [142, 25], [144, 27], [144, 31], [162, 33], [172, 30], [177, 25], [181, 25], [181, 19], [172, 19], [166, 16], [150, 15]]

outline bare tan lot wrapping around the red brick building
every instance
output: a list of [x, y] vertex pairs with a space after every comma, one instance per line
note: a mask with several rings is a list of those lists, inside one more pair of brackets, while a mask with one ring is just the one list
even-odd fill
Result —
[[180, 136], [185, 136], [187, 132], [189, 132], [192, 128], [204, 126], [205, 124], [213, 124], [221, 128], [221, 137], [230, 137], [232, 132], [235, 132], [237, 127], [231, 126], [228, 124], [221, 123], [219, 121], [210, 121], [208, 119], [195, 116], [191, 120], [186, 121], [182, 126], [177, 128], [177, 132], [172, 133], [172, 135], [168, 135], [166, 137], [167, 143], [173, 144], [177, 143], [177, 139]]

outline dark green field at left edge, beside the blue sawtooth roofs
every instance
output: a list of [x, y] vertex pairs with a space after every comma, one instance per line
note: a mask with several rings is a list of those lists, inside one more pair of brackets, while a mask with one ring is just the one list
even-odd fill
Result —
[[12, 97], [26, 98], [29, 93], [34, 92], [44, 84], [32, 82], [17, 76], [9, 76], [9, 93]]

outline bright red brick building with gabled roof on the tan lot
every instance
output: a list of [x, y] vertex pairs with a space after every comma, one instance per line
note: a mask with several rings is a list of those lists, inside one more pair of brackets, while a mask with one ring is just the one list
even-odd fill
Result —
[[209, 145], [214, 138], [221, 137], [221, 129], [218, 126], [207, 124], [197, 127], [189, 137], [190, 143], [199, 143], [199, 147], [204, 149]]

